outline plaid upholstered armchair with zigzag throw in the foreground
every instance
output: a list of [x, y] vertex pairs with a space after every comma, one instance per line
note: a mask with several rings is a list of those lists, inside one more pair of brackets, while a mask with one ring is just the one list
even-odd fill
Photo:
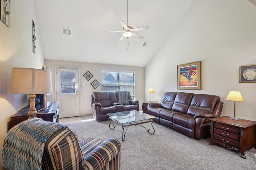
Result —
[[78, 141], [66, 125], [29, 119], [7, 133], [2, 162], [13, 170], [119, 170], [120, 141]]

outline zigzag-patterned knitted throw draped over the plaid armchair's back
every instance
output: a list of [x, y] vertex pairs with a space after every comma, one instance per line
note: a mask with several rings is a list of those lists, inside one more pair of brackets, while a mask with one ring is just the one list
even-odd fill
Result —
[[3, 167], [12, 170], [42, 169], [45, 143], [52, 133], [62, 127], [68, 128], [40, 118], [28, 119], [14, 126], [4, 139]]

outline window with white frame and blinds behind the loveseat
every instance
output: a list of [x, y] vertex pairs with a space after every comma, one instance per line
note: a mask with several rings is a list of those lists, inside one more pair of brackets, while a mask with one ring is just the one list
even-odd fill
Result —
[[135, 72], [101, 71], [101, 90], [118, 91], [127, 90], [132, 99], [135, 96]]

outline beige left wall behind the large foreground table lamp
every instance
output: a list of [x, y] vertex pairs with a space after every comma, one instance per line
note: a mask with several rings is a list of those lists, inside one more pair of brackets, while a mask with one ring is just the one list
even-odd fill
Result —
[[[28, 95], [8, 94], [12, 67], [42, 68], [44, 58], [33, 0], [12, 0], [10, 27], [0, 21], [0, 150], [10, 117], [29, 105]], [[2, 11], [1, 11], [2, 12]], [[32, 53], [32, 20], [36, 24], [36, 52]], [[2, 154], [0, 154], [2, 169]]]

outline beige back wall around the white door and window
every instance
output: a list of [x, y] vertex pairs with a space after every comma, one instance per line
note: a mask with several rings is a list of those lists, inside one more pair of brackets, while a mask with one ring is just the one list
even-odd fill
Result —
[[[70, 56], [72, 57], [72, 56]], [[90, 96], [92, 92], [101, 91], [101, 85], [94, 89], [91, 86], [91, 82], [95, 79], [101, 84], [101, 70], [116, 70], [116, 71], [133, 71], [135, 73], [135, 95], [136, 100], [140, 101], [140, 109], [142, 109], [142, 102], [144, 101], [144, 67], [135, 66], [120, 66], [120, 65], [110, 65], [110, 64], [94, 64], [94, 63], [83, 63], [83, 62], [70, 62], [70, 61], [56, 61], [56, 60], [45, 60], [44, 63], [52, 70], [52, 90], [55, 93], [55, 66], [70, 67], [76, 66], [80, 67], [80, 115], [92, 114]], [[93, 77], [91, 80], [87, 81], [83, 75], [89, 71]], [[82, 84], [85, 86], [82, 86]], [[56, 95], [53, 95], [53, 100], [56, 100]], [[60, 113], [61, 114], [61, 113]]]

